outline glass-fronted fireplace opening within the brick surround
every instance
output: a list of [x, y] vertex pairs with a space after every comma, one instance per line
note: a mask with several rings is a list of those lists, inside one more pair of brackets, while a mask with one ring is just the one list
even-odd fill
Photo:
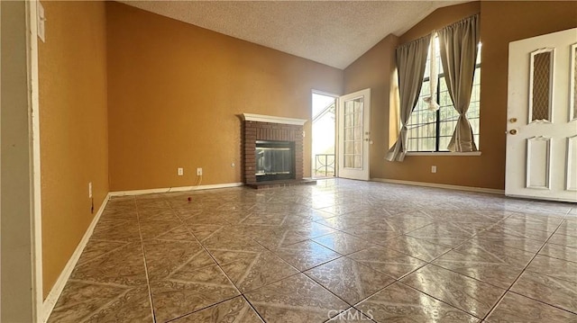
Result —
[[295, 179], [295, 142], [256, 140], [256, 181]]

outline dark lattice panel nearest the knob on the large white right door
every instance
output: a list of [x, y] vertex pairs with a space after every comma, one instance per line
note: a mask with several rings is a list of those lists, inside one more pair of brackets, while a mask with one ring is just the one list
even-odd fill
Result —
[[531, 53], [529, 79], [529, 123], [551, 122], [553, 102], [554, 49], [538, 49]]

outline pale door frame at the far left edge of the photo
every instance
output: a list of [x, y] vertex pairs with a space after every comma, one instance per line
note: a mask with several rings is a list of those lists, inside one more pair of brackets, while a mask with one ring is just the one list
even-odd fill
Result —
[[[6, 90], [2, 93], [3, 99], [9, 97], [7, 100], [10, 100], [10, 104], [2, 106], [2, 113], [9, 119], [5, 121], [3, 118], [0, 124], [3, 126], [2, 132], [9, 135], [7, 138], [10, 140], [3, 142], [3, 160], [11, 172], [18, 174], [18, 178], [4, 177], [2, 185], [4, 194], [13, 189], [21, 194], [18, 199], [9, 201], [9, 205], [3, 204], [4, 211], [9, 211], [2, 214], [3, 231], [14, 232], [19, 238], [6, 238], [3, 235], [2, 249], [10, 252], [2, 256], [4, 261], [0, 270], [3, 276], [8, 275], [2, 291], [10, 294], [2, 297], [0, 307], [4, 310], [0, 320], [25, 318], [27, 321], [41, 322], [45, 319], [45, 313], [42, 306], [38, 2], [2, 2], [0, 6], [4, 9], [2, 14], [10, 17], [9, 22], [2, 22], [8, 27], [5, 32], [9, 40], [6, 41], [16, 45], [13, 49], [17, 53], [14, 56], [2, 55], [2, 60], [6, 61], [5, 67], [10, 66], [10, 71], [5, 72], [7, 78], [4, 81], [7, 80], [11, 87], [9, 92]], [[14, 72], [16, 70], [17, 73]], [[27, 126], [9, 123], [9, 120], [23, 118], [23, 114], [27, 114]], [[3, 139], [7, 140], [5, 136]], [[23, 142], [27, 145], [23, 145]], [[27, 259], [22, 256], [23, 253], [28, 255]], [[9, 271], [6, 270], [8, 264]]]

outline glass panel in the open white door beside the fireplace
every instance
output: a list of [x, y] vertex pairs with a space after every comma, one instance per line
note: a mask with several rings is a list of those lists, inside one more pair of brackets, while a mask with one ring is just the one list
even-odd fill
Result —
[[344, 102], [344, 167], [362, 168], [362, 97]]

